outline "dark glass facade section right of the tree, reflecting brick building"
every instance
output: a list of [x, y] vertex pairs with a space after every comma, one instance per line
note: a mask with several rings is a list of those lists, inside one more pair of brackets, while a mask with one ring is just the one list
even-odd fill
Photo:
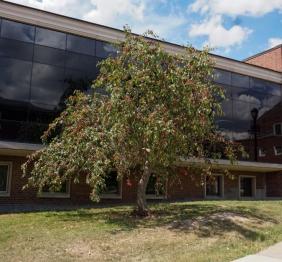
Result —
[[281, 85], [219, 69], [215, 82], [226, 93], [224, 114], [216, 120], [218, 129], [244, 146], [248, 153], [244, 160], [282, 163], [274, 157], [274, 146], [282, 145], [282, 136], [273, 128], [282, 122]]

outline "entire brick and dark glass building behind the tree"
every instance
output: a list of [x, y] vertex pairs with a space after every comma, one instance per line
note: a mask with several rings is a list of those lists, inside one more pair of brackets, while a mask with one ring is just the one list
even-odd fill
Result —
[[[70, 83], [79, 81], [79, 88], [87, 91], [98, 74], [97, 62], [114, 55], [111, 43], [123, 37], [122, 31], [113, 28], [0, 2], [0, 204], [89, 201], [85, 181], [66, 183], [60, 192], [22, 191], [26, 181], [21, 165], [28, 154], [42, 147], [42, 132], [73, 92]], [[181, 46], [162, 45], [167, 52], [183, 52]], [[191, 162], [200, 165], [201, 161], [183, 161], [178, 176], [167, 181], [158, 195], [152, 177], [148, 198], [282, 198], [282, 47], [244, 62], [213, 58], [215, 81], [227, 95], [218, 129], [241, 142], [249, 158], [234, 165], [214, 162], [215, 179], [207, 179], [204, 186], [200, 176], [187, 171]], [[223, 175], [226, 168], [232, 178]], [[135, 200], [134, 179], [119, 182], [112, 172], [107, 188], [104, 199]]]

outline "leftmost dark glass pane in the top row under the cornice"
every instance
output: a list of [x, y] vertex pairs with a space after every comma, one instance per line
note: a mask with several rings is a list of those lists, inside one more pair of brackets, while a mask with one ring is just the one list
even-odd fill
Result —
[[33, 42], [34, 26], [3, 19], [1, 36], [10, 39], [21, 40], [24, 42]]

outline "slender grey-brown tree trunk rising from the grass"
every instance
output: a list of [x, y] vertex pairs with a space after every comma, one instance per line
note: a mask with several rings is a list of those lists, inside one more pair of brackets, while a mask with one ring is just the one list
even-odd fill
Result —
[[140, 177], [137, 187], [137, 210], [136, 213], [138, 216], [148, 216], [149, 210], [146, 200], [146, 189], [151, 176], [151, 171], [148, 166], [148, 163], [145, 163], [145, 168], [143, 174]]

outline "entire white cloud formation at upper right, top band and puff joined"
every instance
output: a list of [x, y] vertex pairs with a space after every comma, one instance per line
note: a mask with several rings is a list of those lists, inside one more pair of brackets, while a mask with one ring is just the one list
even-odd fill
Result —
[[240, 25], [227, 28], [224, 25], [227, 17], [258, 17], [272, 11], [282, 11], [282, 0], [195, 0], [188, 6], [188, 11], [204, 17], [202, 22], [191, 25], [189, 36], [207, 37], [204, 44], [228, 51], [241, 45], [252, 30]]

